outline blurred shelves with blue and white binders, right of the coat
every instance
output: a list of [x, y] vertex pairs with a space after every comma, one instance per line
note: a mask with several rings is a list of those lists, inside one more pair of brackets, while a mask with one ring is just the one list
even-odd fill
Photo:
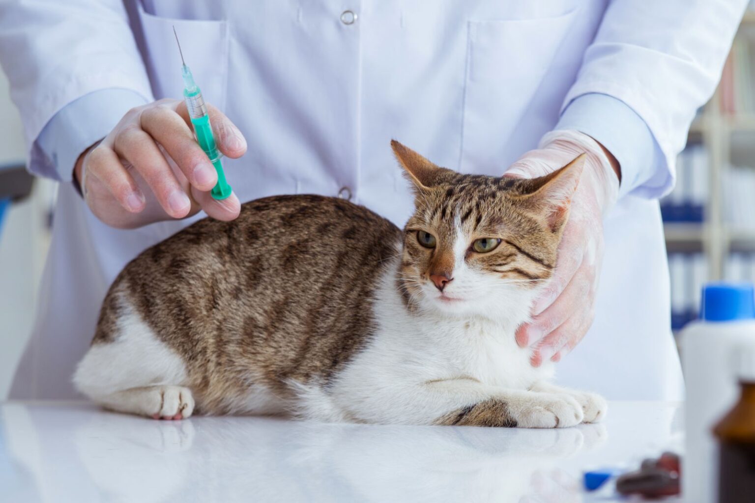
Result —
[[755, 2], [716, 94], [689, 130], [676, 187], [661, 200], [671, 325], [695, 319], [706, 281], [755, 281]]

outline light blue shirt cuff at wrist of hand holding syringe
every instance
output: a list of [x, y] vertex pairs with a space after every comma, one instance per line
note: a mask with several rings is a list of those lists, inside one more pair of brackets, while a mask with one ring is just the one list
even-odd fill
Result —
[[70, 182], [79, 155], [107, 136], [128, 110], [147, 101], [134, 90], [116, 88], [96, 90], [72, 101], [42, 128], [32, 145], [29, 170]]

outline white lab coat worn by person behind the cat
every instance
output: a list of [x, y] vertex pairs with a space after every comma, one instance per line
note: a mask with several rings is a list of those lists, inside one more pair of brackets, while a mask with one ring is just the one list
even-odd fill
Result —
[[[559, 363], [559, 381], [611, 399], [679, 399], [661, 217], [656, 201], [636, 194], [657, 196], [673, 182], [744, 3], [48, 2], [5, 7], [5, 27], [21, 33], [7, 38], [17, 57], [6, 53], [3, 64], [33, 169], [44, 161], [35, 160], [39, 132], [78, 97], [109, 87], [180, 97], [175, 26], [205, 99], [248, 140], [243, 158], [224, 161], [241, 201], [347, 187], [397, 225], [412, 204], [391, 138], [442, 166], [500, 175], [572, 99], [616, 97], [652, 131], [662, 182], [623, 195], [607, 216], [595, 323]], [[346, 10], [356, 22], [342, 22]], [[39, 317], [11, 396], [74, 396], [70, 376], [109, 283], [141, 250], [202, 216], [117, 230], [61, 184]]]

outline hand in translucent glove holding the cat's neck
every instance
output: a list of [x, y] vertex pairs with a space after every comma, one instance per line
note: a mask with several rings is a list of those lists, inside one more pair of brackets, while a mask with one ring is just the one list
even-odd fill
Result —
[[548, 359], [560, 360], [593, 323], [603, 253], [602, 218], [616, 202], [621, 179], [613, 155], [584, 133], [553, 131], [543, 137], [540, 146], [522, 155], [505, 174], [543, 176], [583, 152], [587, 159], [559, 244], [553, 278], [535, 301], [532, 322], [516, 331], [520, 346], [535, 348], [535, 367]]

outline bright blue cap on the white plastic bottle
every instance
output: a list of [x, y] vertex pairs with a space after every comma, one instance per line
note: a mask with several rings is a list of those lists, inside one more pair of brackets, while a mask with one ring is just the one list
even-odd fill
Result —
[[705, 321], [755, 318], [755, 295], [751, 283], [709, 283], [703, 287], [700, 317]]

